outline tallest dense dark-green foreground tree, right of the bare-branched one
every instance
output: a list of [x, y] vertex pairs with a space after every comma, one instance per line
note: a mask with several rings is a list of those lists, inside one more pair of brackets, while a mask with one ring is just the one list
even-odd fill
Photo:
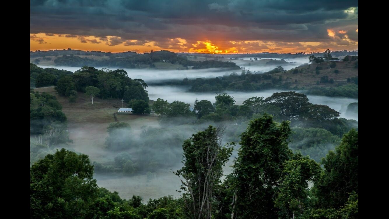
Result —
[[242, 133], [238, 158], [233, 164], [231, 219], [277, 218], [273, 197], [284, 163], [292, 156], [287, 144], [289, 123], [274, 122], [272, 115], [265, 113], [252, 120]]

